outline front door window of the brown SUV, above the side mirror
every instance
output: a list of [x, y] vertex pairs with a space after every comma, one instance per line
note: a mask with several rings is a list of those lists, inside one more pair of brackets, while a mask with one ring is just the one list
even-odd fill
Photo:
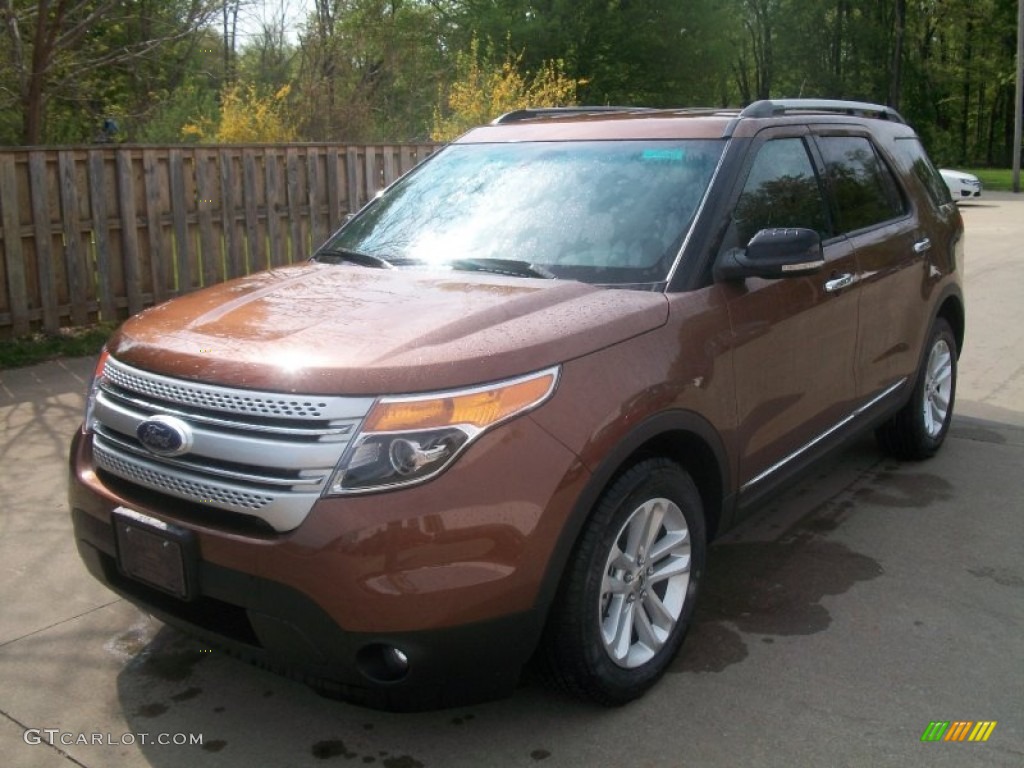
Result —
[[728, 247], [744, 247], [761, 229], [801, 226], [830, 237], [821, 186], [803, 139], [766, 141], [758, 151], [733, 213]]

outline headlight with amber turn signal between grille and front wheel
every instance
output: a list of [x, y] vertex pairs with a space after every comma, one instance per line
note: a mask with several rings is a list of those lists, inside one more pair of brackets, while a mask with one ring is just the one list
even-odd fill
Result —
[[469, 443], [544, 402], [558, 369], [473, 389], [381, 397], [341, 458], [328, 496], [423, 482], [444, 470]]

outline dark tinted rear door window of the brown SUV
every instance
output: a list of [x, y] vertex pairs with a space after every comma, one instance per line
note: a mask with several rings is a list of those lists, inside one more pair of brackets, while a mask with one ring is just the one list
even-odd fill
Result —
[[842, 231], [863, 229], [903, 215], [899, 186], [870, 141], [861, 136], [823, 136], [819, 144]]

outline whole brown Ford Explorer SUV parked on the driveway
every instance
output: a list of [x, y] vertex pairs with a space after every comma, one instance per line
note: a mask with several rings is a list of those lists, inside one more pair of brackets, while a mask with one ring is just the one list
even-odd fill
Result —
[[614, 706], [708, 542], [864, 430], [952, 415], [963, 223], [891, 109], [525, 110], [312, 258], [148, 309], [71, 454], [89, 570], [371, 707]]

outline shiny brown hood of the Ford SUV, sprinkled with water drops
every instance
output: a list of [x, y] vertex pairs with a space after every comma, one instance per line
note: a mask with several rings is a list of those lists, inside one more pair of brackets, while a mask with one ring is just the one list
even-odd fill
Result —
[[667, 316], [660, 293], [307, 263], [147, 309], [109, 347], [128, 365], [225, 386], [395, 394], [537, 371]]

